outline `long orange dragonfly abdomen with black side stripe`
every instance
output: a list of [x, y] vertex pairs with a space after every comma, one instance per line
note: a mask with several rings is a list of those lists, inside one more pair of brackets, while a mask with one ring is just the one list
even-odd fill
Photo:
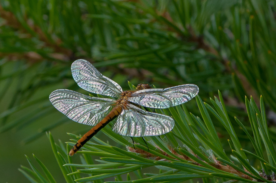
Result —
[[78, 142], [74, 145], [68, 155], [73, 156], [88, 140], [96, 135], [98, 131], [100, 131], [109, 122], [115, 119], [122, 112], [122, 110], [123, 108], [121, 106], [114, 107], [105, 118], [103, 118], [98, 124], [96, 124], [96, 126], [94, 126], [78, 140]]

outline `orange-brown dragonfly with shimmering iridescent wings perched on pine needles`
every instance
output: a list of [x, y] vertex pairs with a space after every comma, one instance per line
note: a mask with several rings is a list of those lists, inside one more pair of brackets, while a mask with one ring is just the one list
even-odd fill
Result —
[[136, 90], [123, 91], [119, 84], [83, 59], [74, 61], [71, 71], [80, 88], [109, 98], [92, 97], [67, 89], [58, 89], [50, 94], [53, 106], [69, 119], [94, 126], [78, 140], [68, 153], [70, 156], [116, 118], [112, 130], [123, 136], [146, 137], [168, 133], [174, 127], [172, 117], [143, 110], [140, 106], [169, 108], [183, 104], [198, 94], [198, 86], [194, 84], [164, 89], [138, 84]]

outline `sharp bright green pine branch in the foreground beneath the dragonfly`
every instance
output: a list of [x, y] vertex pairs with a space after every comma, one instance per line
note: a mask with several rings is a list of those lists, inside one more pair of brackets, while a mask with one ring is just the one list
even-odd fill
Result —
[[[131, 86], [132, 84], [130, 83], [130, 87]], [[221, 99], [220, 93], [219, 97]], [[197, 96], [197, 102], [203, 121], [201, 121], [198, 117], [188, 117], [190, 114], [186, 110], [178, 110], [176, 113], [173, 112], [172, 116], [176, 120], [177, 124], [180, 126], [185, 126], [185, 123], [188, 123], [191, 124], [191, 128], [187, 128], [184, 130], [185, 133], [181, 133], [183, 129], [179, 128], [180, 126], [175, 126], [172, 132], [162, 135], [162, 138], [146, 137], [146, 139], [148, 139], [147, 144], [149, 151], [147, 151], [147, 147], [145, 145], [142, 145], [144, 142], [140, 138], [135, 138], [137, 144], [134, 144], [135, 148], [132, 148], [133, 144], [126, 140], [127, 137], [122, 137], [118, 134], [115, 134], [109, 125], [103, 128], [103, 132], [112, 140], [123, 146], [126, 146], [127, 149], [123, 150], [121, 148], [111, 146], [101, 141], [97, 137], [93, 137], [96, 143], [87, 142], [87, 144], [85, 144], [83, 147], [83, 150], [77, 152], [77, 154], [80, 155], [83, 160], [85, 160], [83, 161], [83, 164], [73, 164], [71, 157], [67, 155], [67, 151], [70, 150], [70, 146], [76, 143], [76, 140], [72, 140], [73, 142], [68, 142], [67, 148], [65, 149], [62, 143], [57, 145], [53, 142], [53, 137], [51, 134], [49, 134], [48, 137], [51, 140], [55, 157], [67, 182], [70, 182], [73, 179], [77, 182], [101, 180], [107, 177], [119, 176], [130, 172], [137, 172], [139, 169], [153, 166], [156, 166], [157, 168], [166, 167], [166, 171], [156, 175], [149, 175], [147, 178], [136, 177], [136, 179], [128, 174], [128, 181], [120, 180], [118, 182], [126, 183], [130, 180], [135, 180], [135, 182], [151, 182], [153, 180], [167, 182], [178, 180], [183, 181], [193, 178], [213, 179], [213, 177], [226, 178], [229, 180], [241, 180], [250, 183], [272, 183], [275, 181], [274, 171], [276, 168], [274, 154], [276, 151], [267, 128], [262, 97], [260, 99], [261, 111], [259, 111], [252, 98], [250, 101], [246, 99], [248, 117], [250, 117], [250, 120], [252, 120], [252, 130], [255, 134], [254, 139], [250, 137], [243, 124], [238, 119], [236, 119], [246, 134], [249, 135], [248, 137], [250, 138], [252, 145], [254, 145], [256, 150], [259, 149], [258, 146], [261, 144], [266, 147], [266, 151], [257, 151], [257, 154], [241, 149], [241, 144], [239, 139], [236, 137], [235, 131], [233, 131], [233, 129], [231, 130], [233, 127], [231, 122], [228, 121], [229, 119], [227, 118], [227, 111], [224, 110], [224, 102], [222, 100], [219, 102], [216, 98], [215, 100], [211, 101], [213, 101], [212, 103], [214, 108], [208, 104], [205, 104], [205, 107], [202, 105], [203, 103], [201, 99]], [[224, 127], [229, 133], [228, 135], [230, 136], [231, 140], [229, 139], [228, 142], [230, 148], [232, 149], [232, 155], [235, 157], [231, 157], [232, 160], [228, 158], [229, 154], [226, 154], [223, 149], [221, 151], [220, 146], [222, 145], [215, 146], [215, 144], [221, 144], [221, 142], [216, 142], [217, 140], [220, 141], [220, 139], [216, 138], [217, 133], [214, 133], [214, 136], [212, 136], [211, 132], [213, 129], [211, 128], [211, 124], [213, 123], [213, 120], [210, 119], [211, 121], [208, 121], [209, 114], [207, 109], [213, 115], [215, 115], [221, 121], [221, 123], [224, 124]], [[253, 115], [253, 111], [257, 113], [257, 116]], [[161, 112], [165, 113], [166, 111], [162, 110]], [[185, 117], [187, 121], [182, 121], [180, 119], [180, 116], [182, 116], [181, 112], [187, 115]], [[191, 114], [191, 117], [192, 116], [193, 115]], [[198, 126], [202, 129], [203, 133], [199, 133], [199, 128], [194, 128], [192, 125], [194, 122], [198, 123]], [[207, 128], [205, 128], [205, 125]], [[256, 133], [257, 131], [258, 133]], [[193, 135], [196, 138], [196, 143], [192, 142], [192, 139], [187, 138], [187, 134], [190, 132], [193, 132]], [[216, 130], [214, 132], [216, 132]], [[184, 148], [182, 148], [181, 144], [174, 143], [175, 137], [173, 137], [172, 134], [183, 143], [182, 145]], [[74, 134], [69, 135], [77, 139], [80, 138]], [[198, 145], [196, 145], [197, 143]], [[172, 144], [177, 146], [173, 146]], [[252, 155], [254, 158], [249, 161], [245, 153]], [[266, 158], [264, 155], [268, 157], [268, 160], [265, 160]], [[101, 163], [94, 164], [91, 156], [100, 156], [101, 160], [97, 161]], [[259, 169], [260, 172], [257, 172], [255, 167], [249, 163], [258, 161], [260, 161], [262, 164], [262, 169]], [[62, 164], [64, 165], [62, 166]], [[68, 167], [71, 167], [71, 170], [69, 170]], [[77, 167], [81, 168], [77, 169]], [[82, 169], [84, 167], [89, 167], [89, 169]], [[101, 169], [99, 170], [98, 168]], [[40, 173], [36, 172], [36, 169], [33, 168], [33, 170], [35, 170], [33, 175], [26, 172], [24, 172], [24, 175], [29, 179], [35, 179], [36, 177], [43, 179]], [[80, 173], [87, 174], [88, 176], [80, 177]], [[51, 176], [48, 175], [47, 177]]]

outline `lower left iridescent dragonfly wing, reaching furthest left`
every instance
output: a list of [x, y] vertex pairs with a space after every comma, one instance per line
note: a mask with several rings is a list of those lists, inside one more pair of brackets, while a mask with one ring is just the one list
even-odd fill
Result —
[[66, 89], [53, 91], [49, 99], [53, 106], [69, 119], [92, 126], [100, 122], [116, 102], [113, 99], [89, 97]]

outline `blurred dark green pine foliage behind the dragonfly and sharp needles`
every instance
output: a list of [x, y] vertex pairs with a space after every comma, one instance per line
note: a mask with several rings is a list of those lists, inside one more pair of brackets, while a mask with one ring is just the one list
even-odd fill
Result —
[[[87, 94], [71, 76], [71, 63], [80, 58], [123, 89], [128, 80], [158, 88], [193, 83], [203, 101], [219, 89], [230, 120], [241, 117], [253, 134], [245, 95], [262, 95], [268, 113], [276, 112], [275, 7], [275, 1], [258, 0], [0, 0], [0, 139], [12, 152], [0, 162], [18, 167], [24, 153], [50, 153], [37, 142], [49, 143], [45, 131], [65, 140], [65, 132], [89, 128], [70, 122], [48, 99], [59, 88]], [[188, 110], [200, 115], [194, 104]], [[214, 125], [222, 141], [230, 138], [221, 123]], [[242, 130], [234, 130], [254, 152]], [[223, 148], [230, 151], [228, 144]], [[47, 153], [44, 158], [54, 161]], [[0, 172], [11, 181], [16, 171]]]

